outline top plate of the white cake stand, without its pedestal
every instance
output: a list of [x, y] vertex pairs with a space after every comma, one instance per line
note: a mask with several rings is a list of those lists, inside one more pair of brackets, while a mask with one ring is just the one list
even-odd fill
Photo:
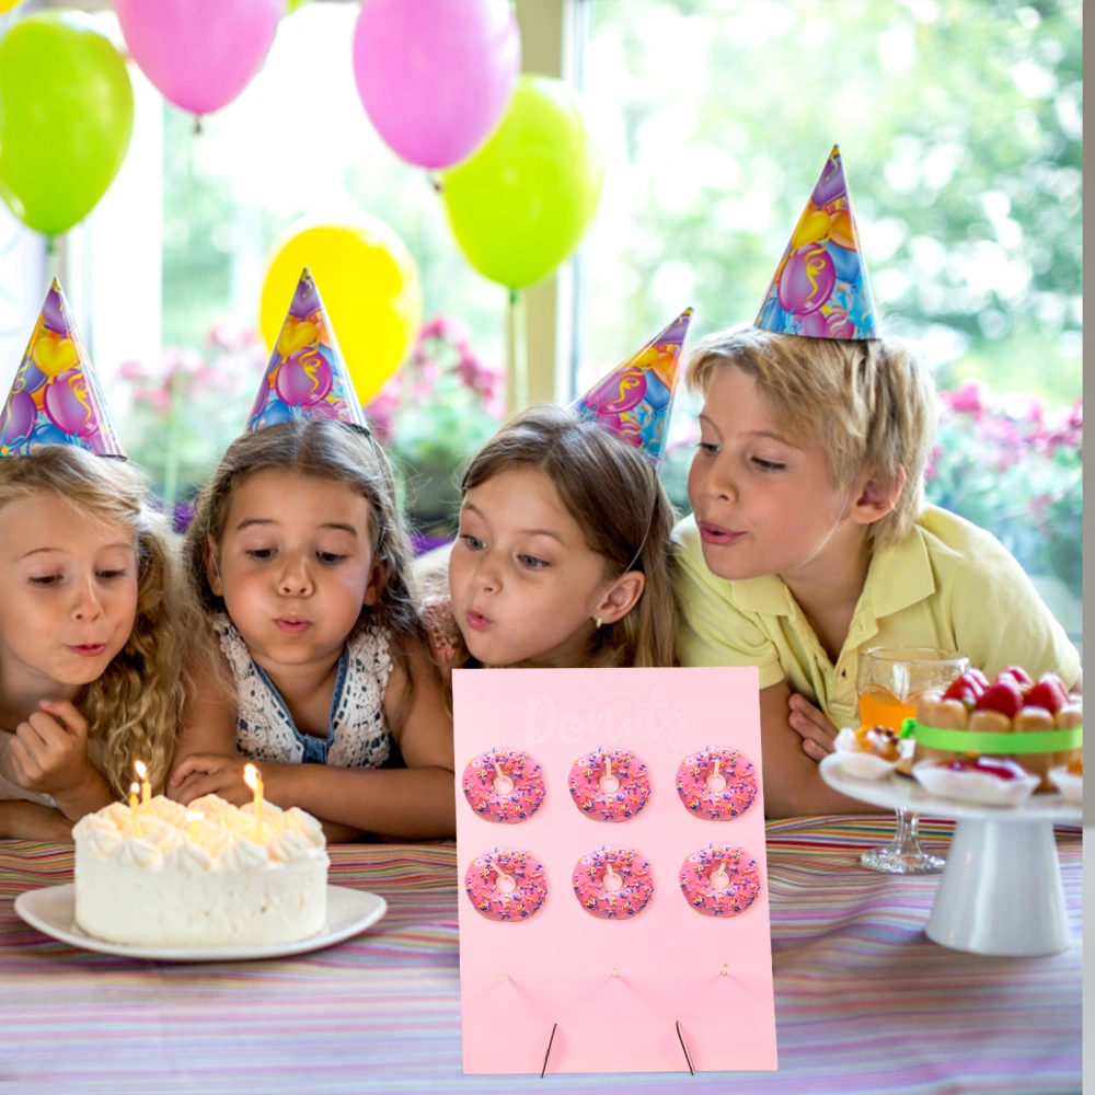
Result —
[[930, 795], [915, 780], [907, 775], [890, 775], [885, 780], [853, 780], [841, 772], [840, 758], [831, 753], [821, 761], [821, 779], [833, 791], [857, 798], [872, 806], [891, 810], [913, 810], [932, 818], [956, 818], [976, 821], [1058, 821], [1080, 825], [1083, 810], [1064, 800], [1062, 795], [1031, 795], [1022, 806], [973, 806], [954, 798]]

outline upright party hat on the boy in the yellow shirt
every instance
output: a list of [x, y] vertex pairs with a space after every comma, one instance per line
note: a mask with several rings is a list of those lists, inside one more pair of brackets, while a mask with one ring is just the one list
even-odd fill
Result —
[[753, 326], [810, 338], [880, 337], [852, 195], [835, 145]]

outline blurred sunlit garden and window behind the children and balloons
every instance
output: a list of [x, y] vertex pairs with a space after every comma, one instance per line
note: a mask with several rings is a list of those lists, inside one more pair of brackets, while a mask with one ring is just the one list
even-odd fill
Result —
[[[24, 0], [0, 35], [58, 7]], [[125, 51], [108, 2], [66, 7]], [[839, 143], [885, 327], [943, 391], [929, 496], [993, 531], [1079, 639], [1081, 0], [514, 8], [523, 70], [577, 90], [603, 160], [577, 250], [516, 304], [458, 245], [446, 173], [401, 159], [362, 108], [359, 3], [290, 2], [261, 70], [200, 131], [128, 61], [125, 162], [51, 252], [0, 206], [0, 379], [59, 273], [131, 458], [184, 519], [265, 367], [276, 241], [301, 218], [377, 218], [422, 304], [368, 413], [428, 544], [508, 410], [573, 397], [687, 304], [690, 341], [752, 320]], [[665, 465], [682, 510], [694, 411], [679, 399]]]

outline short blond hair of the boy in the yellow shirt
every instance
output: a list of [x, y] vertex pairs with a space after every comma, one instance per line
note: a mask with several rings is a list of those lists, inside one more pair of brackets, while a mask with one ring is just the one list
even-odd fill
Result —
[[806, 338], [754, 326], [708, 335], [684, 377], [704, 393], [717, 365], [751, 377], [793, 437], [816, 441], [838, 489], [864, 469], [892, 486], [907, 476], [894, 509], [868, 527], [876, 545], [911, 531], [924, 508], [924, 468], [935, 437], [935, 384], [908, 347], [891, 338]]

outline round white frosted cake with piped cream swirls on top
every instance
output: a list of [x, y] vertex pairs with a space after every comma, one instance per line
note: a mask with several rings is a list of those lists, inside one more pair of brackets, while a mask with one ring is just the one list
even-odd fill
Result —
[[[187, 810], [200, 811], [187, 821]], [[193, 828], [193, 833], [192, 833]], [[326, 840], [296, 807], [263, 806], [256, 829], [216, 795], [189, 807], [158, 795], [113, 803], [72, 830], [76, 921], [112, 943], [162, 947], [292, 943], [323, 930]]]

